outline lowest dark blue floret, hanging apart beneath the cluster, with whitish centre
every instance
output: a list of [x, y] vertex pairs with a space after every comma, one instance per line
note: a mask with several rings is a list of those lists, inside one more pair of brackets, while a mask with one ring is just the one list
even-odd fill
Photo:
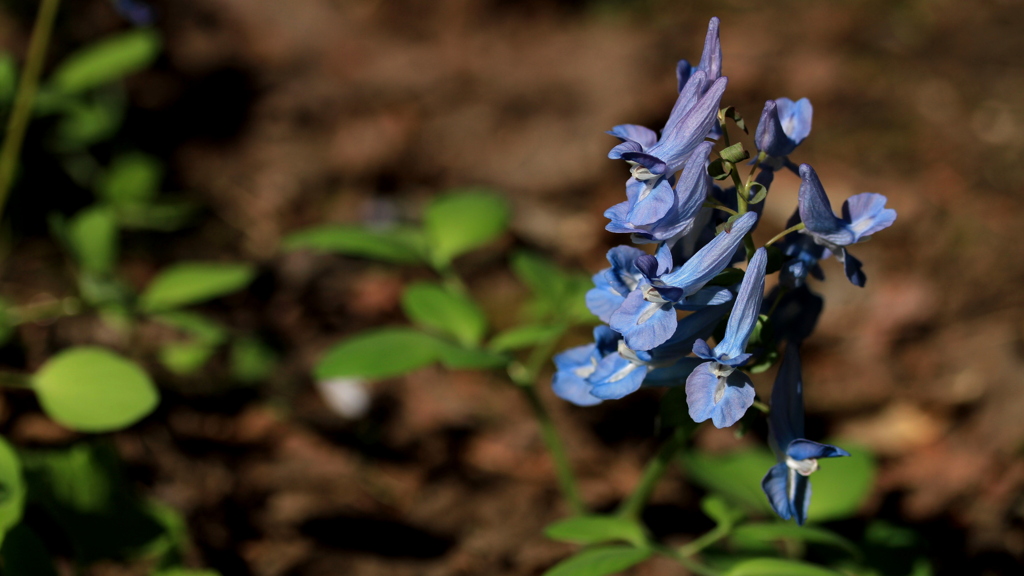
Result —
[[818, 469], [818, 459], [850, 455], [842, 448], [804, 439], [803, 387], [797, 345], [786, 344], [771, 390], [768, 416], [768, 441], [778, 463], [769, 468], [761, 481], [761, 488], [782, 520], [793, 518], [800, 525], [807, 521], [807, 508], [811, 504], [808, 477]]

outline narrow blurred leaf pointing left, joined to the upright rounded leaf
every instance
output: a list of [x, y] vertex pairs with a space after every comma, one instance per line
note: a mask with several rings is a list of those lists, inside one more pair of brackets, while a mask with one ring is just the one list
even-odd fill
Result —
[[423, 233], [412, 228], [376, 230], [357, 225], [328, 224], [293, 233], [282, 243], [285, 250], [316, 250], [385, 262], [423, 262]]

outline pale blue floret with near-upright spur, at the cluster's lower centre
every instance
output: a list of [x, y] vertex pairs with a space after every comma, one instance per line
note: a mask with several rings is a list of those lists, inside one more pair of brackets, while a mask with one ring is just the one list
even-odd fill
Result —
[[715, 427], [731, 426], [754, 404], [754, 385], [736, 367], [751, 358], [745, 352], [746, 341], [761, 313], [767, 264], [768, 251], [758, 248], [736, 293], [725, 336], [715, 349], [702, 338], [693, 343], [693, 354], [708, 361], [686, 378], [686, 404], [694, 422], [711, 419]]

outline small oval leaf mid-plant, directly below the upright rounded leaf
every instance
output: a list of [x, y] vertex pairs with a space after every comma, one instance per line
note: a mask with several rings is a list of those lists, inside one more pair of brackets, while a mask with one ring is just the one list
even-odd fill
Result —
[[433, 282], [406, 288], [401, 307], [415, 324], [449, 334], [464, 346], [479, 344], [487, 331], [487, 319], [476, 302]]

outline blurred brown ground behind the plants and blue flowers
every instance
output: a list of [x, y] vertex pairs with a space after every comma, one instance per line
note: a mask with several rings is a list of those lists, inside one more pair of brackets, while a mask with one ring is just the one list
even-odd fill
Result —
[[[259, 576], [520, 575], [572, 549], [541, 534], [565, 510], [515, 390], [427, 369], [374, 385], [368, 414], [346, 418], [312, 385], [331, 343], [401, 322], [401, 286], [422, 273], [282, 254], [279, 244], [303, 227], [414, 218], [439, 192], [492, 188], [514, 207], [512, 233], [459, 268], [496, 324], [511, 325], [524, 294], [502, 250], [604, 266], [622, 238], [603, 231], [601, 213], [621, 201], [626, 172], [606, 159], [614, 140], [603, 131], [664, 123], [675, 61], [699, 57], [718, 15], [723, 105], [754, 125], [767, 98], [811, 98], [814, 127], [794, 159], [815, 166], [837, 206], [877, 192], [899, 212], [856, 247], [866, 289], [824, 265], [825, 313], [804, 351], [811, 429], [879, 455], [863, 517], [921, 531], [940, 574], [1020, 573], [1024, 3], [152, 4], [164, 52], [129, 79], [111, 146], [162, 158], [163, 188], [202, 211], [178, 232], [129, 236], [120, 273], [142, 286], [181, 258], [258, 262], [246, 294], [206, 311], [261, 334], [282, 361], [251, 386], [225, 385], [216, 371], [158, 372], [160, 411], [116, 437], [138, 487], [185, 515], [193, 562]], [[5, 7], [2, 48], [23, 54], [34, 3]], [[53, 57], [127, 26], [110, 2], [66, 2]], [[15, 302], [70, 290], [46, 214], [89, 199], [57, 176], [44, 183], [12, 197], [0, 293]], [[798, 183], [776, 178], [762, 234], [784, 228]], [[70, 343], [112, 338], [95, 318], [24, 325], [19, 336], [4, 358], [30, 368]], [[756, 383], [762, 396], [770, 388]], [[585, 497], [613, 506], [653, 450], [656, 395], [592, 409], [548, 396]], [[3, 418], [20, 445], [74, 438], [31, 410]], [[731, 434], [697, 442], [742, 445]], [[684, 479], [673, 472], [654, 494], [646, 518], [659, 536], [707, 526]], [[653, 561], [635, 573], [680, 570]]]

